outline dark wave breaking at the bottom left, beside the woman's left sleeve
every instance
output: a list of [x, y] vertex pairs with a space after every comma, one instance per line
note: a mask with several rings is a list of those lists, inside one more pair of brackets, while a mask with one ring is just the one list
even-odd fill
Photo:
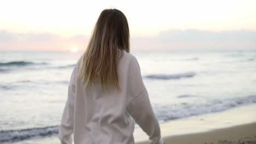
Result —
[[20, 129], [20, 130], [1, 130], [0, 131], [0, 142], [13, 142], [30, 139], [35, 136], [49, 136], [57, 134], [59, 126], [51, 126], [44, 128], [31, 128], [31, 129]]

